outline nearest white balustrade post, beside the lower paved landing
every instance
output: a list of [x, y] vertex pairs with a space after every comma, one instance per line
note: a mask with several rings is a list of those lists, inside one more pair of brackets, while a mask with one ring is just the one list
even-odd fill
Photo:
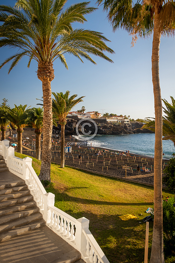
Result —
[[80, 249], [79, 251], [83, 252], [86, 250], [86, 238], [85, 235], [82, 232], [83, 228], [88, 228], [89, 229], [89, 220], [85, 217], [81, 217], [76, 220], [76, 234], [75, 234], [75, 239], [76, 239], [76, 245]]

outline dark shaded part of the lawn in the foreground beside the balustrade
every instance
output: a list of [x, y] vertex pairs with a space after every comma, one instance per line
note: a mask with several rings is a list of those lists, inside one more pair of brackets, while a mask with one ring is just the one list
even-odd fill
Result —
[[[70, 214], [70, 211], [65, 211]], [[72, 212], [72, 216], [79, 213]], [[89, 229], [111, 263], [142, 263], [145, 251], [146, 223], [130, 219], [122, 221], [119, 214], [96, 215], [84, 211], [82, 216], [90, 220]], [[149, 223], [149, 251], [151, 252], [153, 222]]]

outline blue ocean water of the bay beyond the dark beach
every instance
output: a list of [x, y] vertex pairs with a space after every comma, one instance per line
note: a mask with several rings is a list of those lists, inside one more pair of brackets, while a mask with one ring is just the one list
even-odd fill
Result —
[[[82, 135], [81, 135], [82, 136]], [[78, 140], [81, 140], [78, 136], [75, 136]], [[83, 135], [83, 139], [92, 146], [99, 148], [108, 148], [111, 150], [126, 151], [130, 153], [154, 156], [154, 133], [139, 133], [139, 134], [121, 134], [121, 135], [96, 135], [93, 139], [88, 140], [88, 137]], [[165, 155], [163, 158], [169, 159], [172, 157], [172, 153], [175, 152], [174, 143], [171, 140], [162, 140], [163, 152]]]

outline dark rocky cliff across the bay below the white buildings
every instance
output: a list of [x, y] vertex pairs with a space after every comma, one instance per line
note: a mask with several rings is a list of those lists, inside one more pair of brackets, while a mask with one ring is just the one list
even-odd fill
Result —
[[[76, 135], [76, 124], [77, 120], [68, 119], [67, 124], [65, 126], [65, 135]], [[95, 126], [92, 122], [84, 120], [78, 127], [79, 133], [82, 134], [81, 127], [82, 124], [89, 123], [91, 126], [85, 125], [85, 132], [91, 131], [95, 132]], [[97, 134], [111, 134], [111, 135], [119, 135], [119, 134], [134, 134], [134, 133], [153, 133], [148, 129], [140, 129], [143, 125], [140, 122], [131, 122], [130, 125], [112, 125], [112, 124], [96, 124], [98, 128]], [[53, 126], [53, 133], [61, 134], [61, 125], [58, 127]]]

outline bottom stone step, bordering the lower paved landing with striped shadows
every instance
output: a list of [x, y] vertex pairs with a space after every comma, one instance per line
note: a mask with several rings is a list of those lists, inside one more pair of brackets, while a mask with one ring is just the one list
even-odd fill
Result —
[[13, 230], [8, 230], [5, 232], [2, 232], [2, 233], [0, 233], [0, 242], [5, 241], [5, 240], [12, 238], [14, 236], [19, 236], [19, 235], [25, 234], [30, 230], [35, 230], [39, 227], [44, 227], [45, 224], [46, 224], [46, 222], [44, 221], [44, 219], [41, 219], [41, 220], [26, 224], [26, 225], [21, 226], [21, 227], [16, 227]]

